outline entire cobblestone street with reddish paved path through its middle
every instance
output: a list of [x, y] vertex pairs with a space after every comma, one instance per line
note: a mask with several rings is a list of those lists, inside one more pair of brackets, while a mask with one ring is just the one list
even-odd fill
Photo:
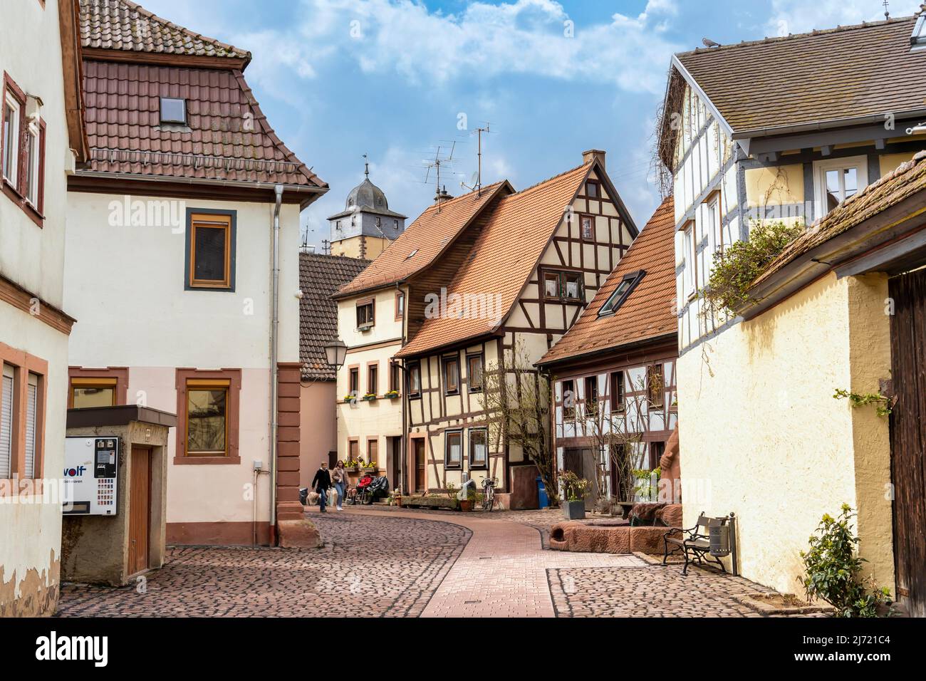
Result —
[[759, 616], [745, 579], [542, 546], [558, 511], [310, 511], [323, 549], [174, 547], [135, 586], [66, 585], [59, 616]]

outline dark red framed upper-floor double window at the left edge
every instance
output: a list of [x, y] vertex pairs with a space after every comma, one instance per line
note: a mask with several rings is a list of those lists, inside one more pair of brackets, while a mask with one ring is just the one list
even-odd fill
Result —
[[[45, 196], [45, 121], [39, 117], [35, 120], [36, 130], [31, 131], [31, 125], [26, 116], [26, 107], [29, 102], [29, 96], [19, 87], [19, 85], [4, 71], [3, 74], [3, 93], [0, 95], [0, 125], [3, 122], [3, 112], [6, 109], [6, 98], [9, 96], [13, 99], [18, 107], [17, 130], [16, 134], [16, 152], [13, 159], [16, 176], [7, 178], [2, 170], [3, 158], [6, 154], [4, 148], [3, 135], [0, 134], [0, 187], [4, 195], [15, 203], [38, 227], [44, 226], [44, 196]], [[36, 137], [37, 151], [37, 169], [35, 201], [32, 202], [27, 196], [26, 178], [29, 170], [26, 168], [27, 155], [26, 149], [30, 144], [31, 136]]]

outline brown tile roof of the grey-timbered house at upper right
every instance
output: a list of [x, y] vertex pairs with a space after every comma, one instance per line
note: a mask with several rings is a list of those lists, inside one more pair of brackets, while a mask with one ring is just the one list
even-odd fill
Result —
[[677, 55], [734, 132], [926, 108], [916, 17]]

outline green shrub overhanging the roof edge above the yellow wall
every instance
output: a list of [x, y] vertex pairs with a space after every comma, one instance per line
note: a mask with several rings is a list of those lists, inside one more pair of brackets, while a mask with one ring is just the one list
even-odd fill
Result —
[[794, 241], [804, 227], [783, 222], [753, 222], [748, 241], [736, 241], [714, 252], [714, 271], [701, 290], [705, 313], [734, 313], [751, 301], [746, 294], [772, 260]]

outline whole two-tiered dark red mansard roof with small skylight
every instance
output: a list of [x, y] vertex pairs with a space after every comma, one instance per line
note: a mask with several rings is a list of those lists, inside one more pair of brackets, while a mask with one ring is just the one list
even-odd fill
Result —
[[[99, 50], [83, 63], [91, 149], [81, 174], [327, 188], [270, 128], [241, 71], [241, 57], [250, 53], [129, 0], [81, 0], [81, 43]], [[127, 62], [121, 58], [127, 52], [168, 61]], [[235, 60], [199, 68], [183, 61], [190, 56]], [[161, 124], [161, 97], [186, 100], [186, 125]]]

